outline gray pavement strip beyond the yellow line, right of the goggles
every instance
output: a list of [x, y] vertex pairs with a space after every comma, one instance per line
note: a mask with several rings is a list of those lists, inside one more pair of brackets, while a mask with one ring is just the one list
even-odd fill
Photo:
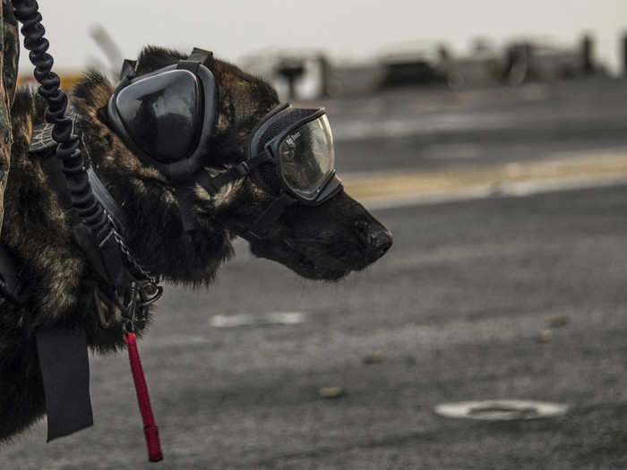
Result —
[[399, 89], [327, 107], [340, 172], [464, 167], [627, 149], [627, 81]]

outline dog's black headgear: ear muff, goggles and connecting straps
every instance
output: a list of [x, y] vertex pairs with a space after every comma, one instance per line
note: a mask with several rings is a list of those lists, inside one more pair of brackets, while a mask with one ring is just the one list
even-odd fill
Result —
[[254, 127], [245, 161], [210, 176], [202, 166], [217, 115], [212, 60], [210, 52], [194, 48], [187, 59], [139, 77], [133, 77], [135, 63], [125, 61], [107, 106], [110, 125], [129, 149], [175, 185], [186, 231], [197, 228], [194, 184], [215, 195], [224, 185], [251, 175], [278, 196], [244, 235], [260, 239], [288, 206], [322, 204], [340, 191], [331, 127], [323, 108], [279, 105]]

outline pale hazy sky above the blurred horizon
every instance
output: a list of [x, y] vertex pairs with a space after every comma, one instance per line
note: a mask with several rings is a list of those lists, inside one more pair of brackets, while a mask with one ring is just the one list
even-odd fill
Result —
[[[627, 0], [40, 0], [59, 68], [105, 61], [90, 27], [104, 26], [125, 56], [147, 44], [204, 47], [236, 61], [271, 47], [317, 48], [334, 59], [376, 56], [408, 42], [445, 41], [454, 53], [472, 38], [541, 36], [571, 45], [584, 31], [597, 55], [619, 64]], [[24, 57], [24, 56], [22, 56]], [[25, 67], [22, 59], [21, 67]]]

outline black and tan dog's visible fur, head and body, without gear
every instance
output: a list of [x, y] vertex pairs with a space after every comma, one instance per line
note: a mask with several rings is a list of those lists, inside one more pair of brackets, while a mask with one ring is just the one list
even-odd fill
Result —
[[[183, 58], [176, 51], [147, 47], [136, 73], [150, 73]], [[218, 107], [202, 167], [216, 175], [245, 159], [251, 130], [279, 98], [269, 84], [228, 62], [214, 60], [211, 73]], [[112, 131], [103, 109], [113, 91], [99, 73], [87, 73], [73, 88], [71, 101], [88, 165], [128, 214], [126, 241], [134, 257], [168, 282], [209, 286], [219, 266], [233, 255], [235, 237], [244, 234], [276, 196], [249, 177], [213, 196], [197, 186], [193, 209], [199, 228], [185, 232], [172, 182], [142, 163]], [[43, 158], [28, 152], [33, 126], [44, 122], [44, 112], [41, 98], [28, 90], [17, 93], [1, 239], [22, 266], [31, 295], [23, 306], [0, 299], [0, 441], [45, 412], [35, 331], [78, 326], [86, 331], [92, 350], [106, 353], [124, 346], [121, 323], [114, 320], [105, 328], [94, 313], [94, 286], [101, 280], [73, 239]], [[289, 207], [250, 249], [304, 278], [335, 281], [379, 259], [391, 243], [387, 229], [341, 191], [319, 206]]]

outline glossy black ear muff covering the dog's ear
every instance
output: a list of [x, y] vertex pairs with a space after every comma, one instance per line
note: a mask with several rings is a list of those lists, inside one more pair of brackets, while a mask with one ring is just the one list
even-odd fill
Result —
[[140, 158], [174, 181], [193, 176], [208, 151], [216, 119], [210, 52], [194, 48], [178, 64], [134, 77], [133, 61], [107, 106], [109, 124]]

